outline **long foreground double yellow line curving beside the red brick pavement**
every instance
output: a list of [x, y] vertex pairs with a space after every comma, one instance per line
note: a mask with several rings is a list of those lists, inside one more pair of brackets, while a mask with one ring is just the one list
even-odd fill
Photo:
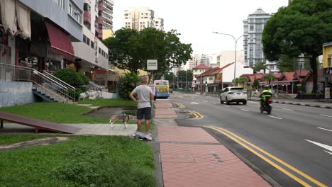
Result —
[[[286, 162], [282, 161], [281, 159], [273, 156], [269, 152], [266, 152], [264, 149], [261, 149], [260, 147], [253, 145], [252, 143], [248, 142], [247, 140], [244, 140], [242, 137], [239, 137], [238, 135], [234, 134], [233, 132], [229, 132], [228, 130], [225, 130], [223, 128], [214, 127], [214, 126], [206, 126], [205, 128], [216, 130], [216, 131], [220, 132], [221, 134], [226, 135], [227, 137], [231, 138], [231, 140], [233, 140], [234, 142], [237, 142], [239, 145], [242, 145], [243, 147], [245, 147], [245, 149], [248, 149], [253, 154], [256, 154], [258, 157], [265, 160], [265, 162], [267, 162], [267, 163], [271, 164], [272, 166], [274, 166], [275, 168], [279, 169], [280, 171], [282, 171], [282, 173], [291, 177], [298, 183], [301, 183], [301, 185], [303, 185], [303, 186], [311, 186], [311, 185], [309, 185], [309, 183], [306, 183], [305, 181], [299, 179], [297, 176], [294, 176], [294, 174], [290, 173], [286, 169], [282, 168], [282, 166], [278, 165], [277, 162], [279, 162], [283, 166], [286, 166], [287, 168], [291, 169], [292, 171], [296, 172], [300, 176], [303, 176], [305, 179], [308, 179], [312, 183], [315, 183], [317, 186], [326, 186], [325, 184], [317, 181], [316, 179], [312, 178], [311, 176], [304, 174], [302, 171], [299, 171], [299, 169], [296, 169], [294, 166], [291, 166], [290, 164], [287, 164]], [[262, 154], [260, 154], [256, 150], [254, 150], [252, 147], [254, 149], [258, 150], [259, 152], [261, 152], [262, 154], [265, 154], [267, 157], [274, 159], [276, 162], [273, 162], [271, 159], [268, 159], [267, 157], [263, 156]]]

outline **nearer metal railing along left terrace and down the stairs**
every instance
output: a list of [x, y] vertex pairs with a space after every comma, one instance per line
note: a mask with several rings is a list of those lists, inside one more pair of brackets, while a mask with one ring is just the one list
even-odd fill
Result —
[[30, 67], [0, 63], [0, 79], [4, 81], [31, 81], [42, 90], [68, 102], [69, 96], [66, 86]]

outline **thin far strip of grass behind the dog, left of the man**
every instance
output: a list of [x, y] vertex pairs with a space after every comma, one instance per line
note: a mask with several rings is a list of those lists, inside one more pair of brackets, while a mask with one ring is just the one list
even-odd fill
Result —
[[123, 98], [97, 98], [96, 100], [90, 101], [79, 101], [79, 104], [92, 104], [92, 106], [137, 106], [135, 101], [124, 100]]

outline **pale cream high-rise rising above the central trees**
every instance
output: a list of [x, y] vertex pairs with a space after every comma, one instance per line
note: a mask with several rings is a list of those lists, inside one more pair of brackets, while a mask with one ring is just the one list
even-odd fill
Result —
[[[157, 21], [157, 27], [155, 23]], [[132, 28], [135, 30], [143, 30], [144, 28], [157, 28], [163, 30], [164, 20], [155, 18], [155, 11], [148, 7], [134, 7], [123, 13], [123, 28]]]

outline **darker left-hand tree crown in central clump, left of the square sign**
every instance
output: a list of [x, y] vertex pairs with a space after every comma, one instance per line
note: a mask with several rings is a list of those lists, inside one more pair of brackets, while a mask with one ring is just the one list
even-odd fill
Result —
[[143, 69], [142, 45], [140, 44], [137, 30], [122, 28], [116, 30], [114, 37], [103, 40], [104, 45], [109, 48], [109, 61], [113, 62], [119, 69], [127, 69], [133, 74], [138, 74], [138, 69]]

